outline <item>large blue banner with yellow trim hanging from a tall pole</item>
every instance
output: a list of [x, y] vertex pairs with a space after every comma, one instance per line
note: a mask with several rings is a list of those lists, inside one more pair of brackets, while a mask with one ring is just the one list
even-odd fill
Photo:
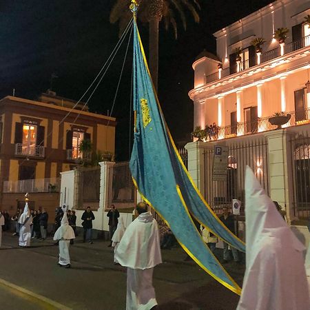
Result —
[[245, 245], [209, 208], [178, 156], [154, 91], [136, 21], [134, 111], [130, 169], [136, 187], [147, 203], [163, 217], [187, 254], [216, 280], [240, 294], [240, 287], [203, 242], [190, 214], [240, 251], [245, 251]]

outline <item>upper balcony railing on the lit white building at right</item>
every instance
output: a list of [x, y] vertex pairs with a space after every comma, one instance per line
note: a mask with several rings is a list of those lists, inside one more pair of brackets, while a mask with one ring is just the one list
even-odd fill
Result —
[[[303, 37], [300, 40], [285, 44], [284, 55], [289, 54], [291, 52], [295, 52], [296, 50], [300, 50], [301, 48], [307, 47], [309, 45], [310, 45], [310, 35], [307, 37]], [[251, 59], [251, 61], [247, 59], [246, 61], [241, 61], [240, 63], [236, 63], [235, 66], [227, 67], [223, 70], [218, 70], [218, 72], [214, 72], [212, 74], [205, 76], [205, 83], [208, 84], [214, 81], [218, 81], [220, 79], [225, 78], [226, 76], [235, 74], [236, 72], [242, 72], [249, 68], [254, 68], [257, 65], [261, 65], [262, 63], [266, 63], [267, 61], [271, 61], [272, 59], [276, 59], [277, 57], [281, 56], [280, 51], [281, 51], [281, 48], [280, 46], [278, 46], [278, 48], [262, 53], [260, 55], [259, 64], [257, 63], [257, 57], [256, 57], [256, 59]], [[252, 65], [250, 65], [250, 63]], [[255, 65], [253, 65], [253, 63], [255, 63]]]

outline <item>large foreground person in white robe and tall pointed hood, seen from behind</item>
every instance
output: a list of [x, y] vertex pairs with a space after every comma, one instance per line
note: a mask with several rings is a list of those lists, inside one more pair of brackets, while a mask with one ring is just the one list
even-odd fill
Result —
[[304, 245], [249, 167], [245, 184], [247, 266], [237, 310], [309, 310]]

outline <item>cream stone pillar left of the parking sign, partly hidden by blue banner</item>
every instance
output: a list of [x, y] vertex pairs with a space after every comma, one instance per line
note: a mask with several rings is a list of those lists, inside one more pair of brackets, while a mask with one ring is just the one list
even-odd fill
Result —
[[185, 145], [187, 149], [188, 165], [187, 169], [197, 185], [200, 193], [205, 196], [205, 156], [204, 152], [210, 147], [202, 141], [190, 142]]

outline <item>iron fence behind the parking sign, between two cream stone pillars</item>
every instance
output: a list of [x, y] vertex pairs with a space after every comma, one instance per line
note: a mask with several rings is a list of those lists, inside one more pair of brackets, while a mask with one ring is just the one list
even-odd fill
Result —
[[[215, 145], [215, 144], [214, 144]], [[216, 145], [227, 145], [217, 143]], [[216, 214], [221, 213], [224, 205], [231, 207], [232, 199], [245, 201], [245, 167], [253, 169], [256, 178], [269, 194], [267, 141], [263, 136], [242, 137], [239, 141], [228, 146], [227, 180], [214, 181], [212, 169], [214, 163], [214, 149], [204, 152], [205, 161], [205, 200]], [[244, 211], [244, 209], [242, 209]]]

